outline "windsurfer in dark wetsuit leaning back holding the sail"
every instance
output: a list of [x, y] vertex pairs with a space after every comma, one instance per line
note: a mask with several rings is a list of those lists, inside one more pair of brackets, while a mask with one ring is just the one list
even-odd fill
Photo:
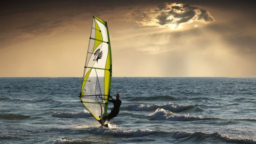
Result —
[[[110, 119], [112, 119], [112, 118], [114, 118], [114, 117], [116, 117], [117, 115], [118, 115], [118, 113], [119, 113], [119, 108], [120, 108], [120, 106], [121, 106], [121, 103], [122, 103], [122, 101], [121, 100], [119, 100], [119, 98], [120, 98], [120, 95], [117, 93], [116, 94], [116, 100], [114, 100], [111, 96], [109, 96], [109, 98], [111, 98], [112, 100], [108, 100], [109, 102], [112, 102], [113, 104], [114, 104], [114, 108], [111, 110], [111, 112], [104, 118], [104, 123], [106, 122], [106, 121], [110, 121]], [[103, 123], [103, 124], [104, 124]]]

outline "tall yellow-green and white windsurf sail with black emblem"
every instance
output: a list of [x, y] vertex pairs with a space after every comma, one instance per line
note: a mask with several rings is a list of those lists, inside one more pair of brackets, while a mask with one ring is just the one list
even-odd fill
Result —
[[107, 22], [93, 17], [80, 100], [99, 123], [107, 115], [111, 87], [111, 47]]

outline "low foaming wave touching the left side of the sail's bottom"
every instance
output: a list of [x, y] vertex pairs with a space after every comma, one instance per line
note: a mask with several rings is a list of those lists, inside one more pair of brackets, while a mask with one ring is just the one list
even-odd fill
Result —
[[59, 118], [86, 118], [91, 117], [92, 114], [88, 111], [84, 110], [79, 113], [75, 112], [61, 112], [61, 111], [54, 111], [52, 110], [52, 116], [53, 117], [59, 117]]

